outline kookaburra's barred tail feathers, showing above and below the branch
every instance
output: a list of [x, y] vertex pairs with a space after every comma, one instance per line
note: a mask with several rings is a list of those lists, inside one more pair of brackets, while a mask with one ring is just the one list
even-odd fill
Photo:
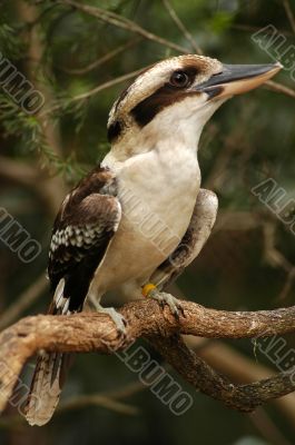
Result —
[[[65, 280], [61, 279], [49, 309], [51, 314], [69, 314], [69, 299], [63, 298], [63, 286]], [[52, 417], [59, 402], [70, 356], [69, 354], [43, 353], [38, 358], [24, 408], [24, 415], [30, 425], [45, 425]]]

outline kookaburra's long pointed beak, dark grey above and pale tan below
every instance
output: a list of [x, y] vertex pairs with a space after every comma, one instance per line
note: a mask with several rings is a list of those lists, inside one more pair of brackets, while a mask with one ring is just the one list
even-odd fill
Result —
[[223, 71], [213, 75], [195, 90], [206, 92], [209, 99], [230, 97], [259, 87], [275, 76], [283, 66], [279, 62], [268, 65], [223, 65]]

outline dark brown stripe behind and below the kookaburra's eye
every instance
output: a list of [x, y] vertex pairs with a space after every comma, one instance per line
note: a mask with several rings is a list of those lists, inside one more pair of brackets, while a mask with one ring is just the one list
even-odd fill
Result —
[[[198, 72], [197, 68], [186, 67], [183, 71], [189, 77], [190, 83], [193, 83]], [[153, 92], [153, 95], [141, 100], [141, 102], [134, 107], [130, 111], [131, 116], [140, 127], [145, 127], [157, 116], [159, 111], [175, 102], [185, 99], [187, 95], [190, 93], [179, 90], [169, 83], [165, 83], [158, 90]]]

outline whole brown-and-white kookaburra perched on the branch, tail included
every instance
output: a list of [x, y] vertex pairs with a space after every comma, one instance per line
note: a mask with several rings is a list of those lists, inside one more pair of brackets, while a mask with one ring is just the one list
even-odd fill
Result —
[[[217, 212], [217, 197], [200, 188], [198, 141], [212, 115], [232, 96], [254, 89], [275, 65], [224, 65], [196, 55], [144, 70], [111, 108], [102, 162], [69, 192], [56, 218], [48, 275], [50, 314], [102, 308], [107, 291], [157, 298], [181, 316], [163, 293], [199, 254]], [[38, 359], [26, 417], [46, 424], [58, 403], [65, 354]]]

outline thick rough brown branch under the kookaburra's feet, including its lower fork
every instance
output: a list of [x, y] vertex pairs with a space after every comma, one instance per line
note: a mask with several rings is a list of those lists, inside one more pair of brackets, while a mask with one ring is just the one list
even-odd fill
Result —
[[181, 301], [185, 317], [154, 300], [138, 300], [119, 312], [127, 320], [126, 337], [117, 336], [104, 314], [27, 317], [0, 334], [0, 409], [3, 409], [26, 360], [40, 350], [112, 353], [147, 338], [165, 359], [198, 390], [227, 406], [252, 412], [272, 398], [295, 390], [295, 367], [248, 385], [234, 385], [188, 349], [180, 334], [206, 338], [253, 338], [295, 332], [295, 306], [276, 310], [225, 312]]

